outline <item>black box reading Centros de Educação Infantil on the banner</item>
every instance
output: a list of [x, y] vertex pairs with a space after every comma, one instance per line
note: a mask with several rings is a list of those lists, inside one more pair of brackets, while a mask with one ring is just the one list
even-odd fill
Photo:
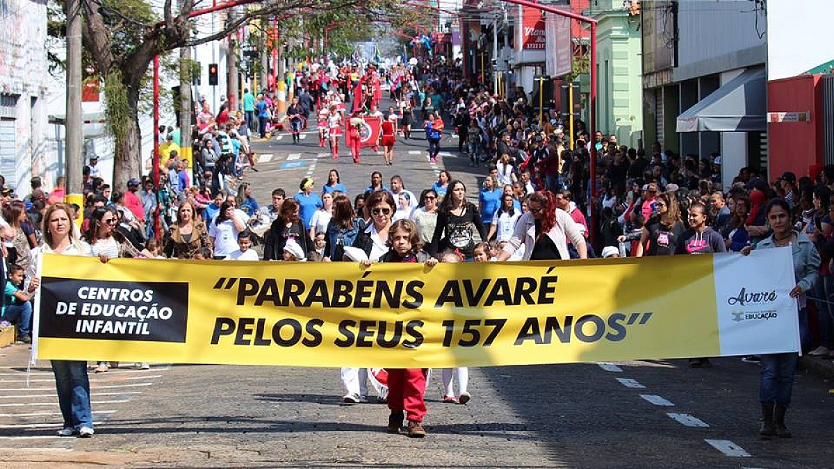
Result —
[[40, 336], [185, 342], [188, 283], [44, 277]]

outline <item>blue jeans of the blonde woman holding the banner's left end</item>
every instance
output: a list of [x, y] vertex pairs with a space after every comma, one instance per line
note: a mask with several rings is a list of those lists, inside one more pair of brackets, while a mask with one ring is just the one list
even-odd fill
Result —
[[93, 406], [90, 405], [90, 381], [87, 378], [87, 362], [74, 360], [53, 360], [55, 389], [58, 391], [58, 406], [63, 415], [63, 427], [80, 429], [93, 428]]

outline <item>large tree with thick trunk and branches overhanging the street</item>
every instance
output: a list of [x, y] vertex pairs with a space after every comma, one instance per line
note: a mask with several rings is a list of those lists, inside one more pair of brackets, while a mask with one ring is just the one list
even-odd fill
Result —
[[[228, 1], [228, 0], [227, 0]], [[222, 3], [222, 2], [221, 2]], [[193, 38], [191, 15], [204, 8], [200, 0], [165, 0], [160, 13], [150, 0], [82, 0], [85, 55], [104, 81], [108, 127], [115, 139], [114, 187], [142, 173], [138, 115], [148, 67], [155, 56], [177, 48], [220, 40], [250, 22], [316, 12], [362, 13], [366, 18], [394, 17], [394, 0], [263, 0], [251, 8], [235, 7], [217, 33]], [[63, 1], [58, 1], [63, 6]], [[224, 14], [224, 13], [220, 13]], [[60, 29], [60, 28], [58, 28]], [[53, 33], [60, 33], [50, 28]], [[185, 129], [183, 129], [185, 131]]]

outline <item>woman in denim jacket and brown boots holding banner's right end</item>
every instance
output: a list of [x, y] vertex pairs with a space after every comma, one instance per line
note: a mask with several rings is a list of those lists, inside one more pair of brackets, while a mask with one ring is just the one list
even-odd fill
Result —
[[[772, 199], [765, 208], [767, 222], [773, 229], [773, 235], [759, 241], [757, 250], [781, 246], [791, 246], [793, 251], [793, 271], [796, 286], [791, 289], [791, 297], [799, 304], [799, 330], [803, 343], [808, 335], [808, 316], [805, 309], [806, 294], [814, 288], [820, 276], [820, 255], [811, 240], [791, 226], [791, 207], [785, 199]], [[750, 253], [750, 247], [741, 250], [741, 254]], [[761, 356], [761, 374], [759, 378], [759, 401], [761, 402], [761, 430], [763, 437], [779, 436], [790, 438], [791, 432], [785, 426], [785, 413], [791, 405], [793, 391], [793, 374], [796, 352], [775, 353]]]

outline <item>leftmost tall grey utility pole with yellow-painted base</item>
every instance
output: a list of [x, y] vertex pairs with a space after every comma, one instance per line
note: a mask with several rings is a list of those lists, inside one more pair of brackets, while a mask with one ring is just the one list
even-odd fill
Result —
[[[83, 207], [83, 114], [81, 110], [81, 0], [67, 0], [67, 196], [70, 204]], [[81, 210], [78, 210], [81, 214]]]

